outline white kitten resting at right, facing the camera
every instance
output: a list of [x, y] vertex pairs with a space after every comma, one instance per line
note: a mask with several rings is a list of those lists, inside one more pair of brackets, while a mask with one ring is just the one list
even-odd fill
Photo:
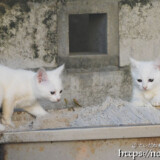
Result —
[[160, 105], [160, 62], [130, 58], [133, 79], [132, 103], [135, 106]]

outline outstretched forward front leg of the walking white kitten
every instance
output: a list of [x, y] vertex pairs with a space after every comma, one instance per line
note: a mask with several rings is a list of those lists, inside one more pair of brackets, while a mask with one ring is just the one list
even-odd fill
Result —
[[38, 102], [32, 106], [24, 107], [23, 109], [36, 117], [48, 114], [48, 112], [46, 112]]

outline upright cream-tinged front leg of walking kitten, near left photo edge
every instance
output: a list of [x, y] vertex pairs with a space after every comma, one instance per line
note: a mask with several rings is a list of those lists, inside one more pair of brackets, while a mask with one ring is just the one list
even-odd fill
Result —
[[5, 99], [2, 104], [2, 123], [14, 127], [11, 117], [14, 111], [13, 101]]

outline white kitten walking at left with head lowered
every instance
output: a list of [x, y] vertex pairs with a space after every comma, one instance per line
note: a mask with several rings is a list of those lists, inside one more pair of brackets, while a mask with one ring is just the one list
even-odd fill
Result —
[[13, 125], [11, 116], [14, 108], [23, 108], [34, 116], [47, 112], [37, 99], [45, 98], [58, 102], [62, 93], [61, 73], [64, 65], [52, 71], [40, 68], [37, 72], [11, 69], [0, 65], [0, 104], [2, 123]]

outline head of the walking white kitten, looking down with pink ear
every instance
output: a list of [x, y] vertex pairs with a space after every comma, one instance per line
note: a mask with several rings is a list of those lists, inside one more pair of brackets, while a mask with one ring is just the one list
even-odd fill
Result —
[[40, 68], [36, 74], [36, 95], [38, 98], [45, 98], [51, 102], [58, 102], [61, 99], [63, 91], [61, 74], [64, 70], [64, 65], [46, 72]]

